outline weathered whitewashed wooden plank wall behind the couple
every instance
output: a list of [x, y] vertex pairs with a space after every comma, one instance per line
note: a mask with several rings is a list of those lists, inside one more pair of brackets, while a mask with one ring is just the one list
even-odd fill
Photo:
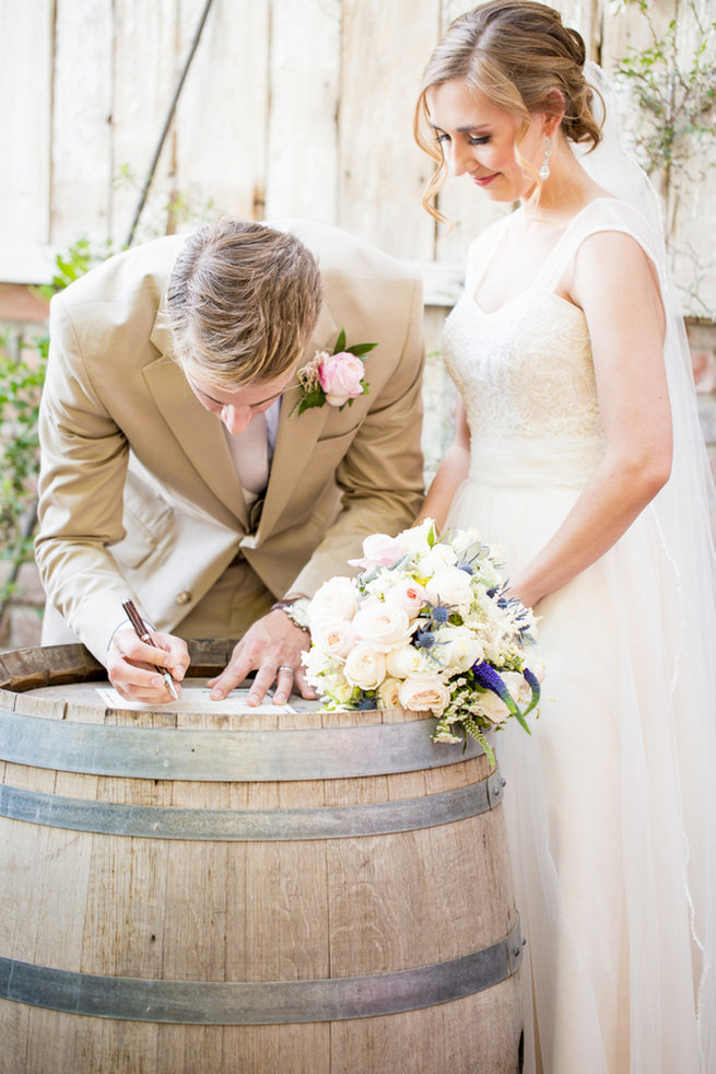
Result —
[[[657, 25], [691, 0], [652, 0]], [[714, 0], [696, 0], [714, 7]], [[127, 241], [139, 188], [206, 0], [0, 0], [0, 280], [47, 277], [81, 235]], [[647, 40], [619, 0], [556, 0], [612, 70]], [[427, 299], [455, 297], [468, 240], [500, 207], [449, 182], [438, 237], [412, 141], [420, 73], [466, 0], [214, 0], [134, 241], [221, 210], [308, 217], [425, 265]], [[704, 148], [716, 161], [713, 147]], [[716, 311], [715, 184], [669, 203], [683, 287]], [[188, 215], [185, 210], [188, 210]], [[438, 268], [431, 270], [431, 262]]]

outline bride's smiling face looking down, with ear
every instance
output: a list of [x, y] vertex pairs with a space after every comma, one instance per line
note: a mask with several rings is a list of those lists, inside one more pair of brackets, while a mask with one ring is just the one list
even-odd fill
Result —
[[[469, 175], [495, 201], [516, 201], [535, 189], [515, 156], [517, 120], [462, 79], [427, 91], [427, 108], [445, 162], [455, 175]], [[535, 116], [519, 145], [536, 170], [544, 153], [543, 117]]]

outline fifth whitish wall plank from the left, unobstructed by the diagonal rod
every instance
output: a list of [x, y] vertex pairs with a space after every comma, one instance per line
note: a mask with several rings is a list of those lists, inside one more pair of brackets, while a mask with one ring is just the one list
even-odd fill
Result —
[[333, 223], [341, 0], [271, 0], [270, 47], [266, 217]]

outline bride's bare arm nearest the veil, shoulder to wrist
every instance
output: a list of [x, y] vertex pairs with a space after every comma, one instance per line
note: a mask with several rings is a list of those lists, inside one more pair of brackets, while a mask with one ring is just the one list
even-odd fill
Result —
[[671, 468], [664, 308], [646, 255], [627, 235], [592, 235], [568, 295], [587, 318], [606, 452], [564, 523], [513, 579], [512, 595], [530, 607], [611, 548]]

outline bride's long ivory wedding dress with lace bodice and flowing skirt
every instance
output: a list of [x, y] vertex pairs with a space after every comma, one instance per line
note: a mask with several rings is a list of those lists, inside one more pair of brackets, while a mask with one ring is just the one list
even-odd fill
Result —
[[[626, 232], [650, 253], [641, 214], [599, 198], [533, 284], [485, 313], [476, 289], [509, 219], [473, 244], [444, 332], [471, 430], [470, 475], [448, 525], [502, 546], [508, 576], [555, 532], [603, 450], [585, 317], [555, 288], [596, 231]], [[526, 1071], [714, 1072], [713, 950], [703, 947], [716, 914], [704, 845], [716, 751], [691, 715], [705, 705], [713, 728], [716, 704], [690, 599], [653, 504], [537, 609], [540, 716], [531, 737], [513, 721], [495, 739], [535, 1009]]]

